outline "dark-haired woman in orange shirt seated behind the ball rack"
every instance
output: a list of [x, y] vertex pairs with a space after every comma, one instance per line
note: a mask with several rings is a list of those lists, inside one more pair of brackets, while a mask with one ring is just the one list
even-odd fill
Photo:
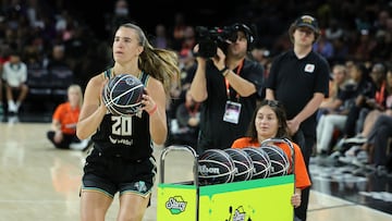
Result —
[[[259, 147], [268, 138], [289, 138], [289, 128], [283, 107], [275, 100], [262, 100], [255, 109], [248, 130], [248, 137], [242, 137], [232, 144], [232, 148]], [[301, 189], [310, 186], [310, 180], [298, 145], [294, 146], [295, 193], [291, 198], [294, 207], [301, 205]], [[292, 159], [287, 144], [274, 144]]]

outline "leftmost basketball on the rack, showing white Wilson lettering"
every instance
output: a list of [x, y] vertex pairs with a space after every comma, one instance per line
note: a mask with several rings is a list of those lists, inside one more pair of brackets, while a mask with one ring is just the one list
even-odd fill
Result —
[[234, 180], [235, 165], [228, 152], [208, 149], [198, 159], [199, 185], [230, 183]]

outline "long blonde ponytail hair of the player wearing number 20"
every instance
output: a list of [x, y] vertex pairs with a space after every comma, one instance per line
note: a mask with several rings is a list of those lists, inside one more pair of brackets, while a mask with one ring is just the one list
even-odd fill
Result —
[[139, 38], [139, 45], [144, 48], [138, 58], [138, 65], [140, 70], [160, 81], [163, 84], [166, 94], [170, 97], [172, 82], [180, 79], [177, 53], [168, 49], [154, 48], [148, 41], [143, 29], [135, 24], [126, 23], [120, 27], [136, 30]]

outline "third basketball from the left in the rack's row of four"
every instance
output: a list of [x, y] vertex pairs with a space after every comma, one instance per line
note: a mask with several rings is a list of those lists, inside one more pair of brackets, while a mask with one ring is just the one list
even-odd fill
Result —
[[246, 147], [243, 148], [243, 150], [250, 157], [254, 165], [252, 180], [268, 177], [270, 174], [271, 162], [267, 152], [258, 147]]

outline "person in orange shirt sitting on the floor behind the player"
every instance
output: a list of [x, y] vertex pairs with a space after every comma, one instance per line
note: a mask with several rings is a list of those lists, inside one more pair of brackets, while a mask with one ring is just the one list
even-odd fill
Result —
[[81, 140], [76, 136], [76, 123], [83, 103], [83, 93], [78, 85], [68, 88], [68, 101], [59, 105], [52, 116], [52, 130], [47, 133], [48, 139], [60, 149], [86, 150], [89, 139]]

